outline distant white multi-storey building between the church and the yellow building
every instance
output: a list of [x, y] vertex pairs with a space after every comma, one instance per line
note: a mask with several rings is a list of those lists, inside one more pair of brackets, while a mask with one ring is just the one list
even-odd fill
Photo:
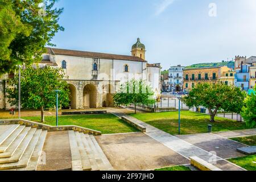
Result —
[[185, 67], [177, 65], [169, 69], [169, 90], [170, 92], [183, 91], [183, 70]]

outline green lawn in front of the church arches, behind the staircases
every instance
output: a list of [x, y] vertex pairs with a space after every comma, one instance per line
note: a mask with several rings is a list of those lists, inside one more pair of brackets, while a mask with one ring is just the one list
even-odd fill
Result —
[[[23, 117], [30, 121], [40, 122], [40, 117]], [[46, 125], [56, 125], [55, 116], [46, 116]], [[130, 133], [138, 131], [133, 126], [115, 117], [113, 114], [65, 115], [59, 116], [59, 125], [76, 125], [101, 131], [102, 134]]]

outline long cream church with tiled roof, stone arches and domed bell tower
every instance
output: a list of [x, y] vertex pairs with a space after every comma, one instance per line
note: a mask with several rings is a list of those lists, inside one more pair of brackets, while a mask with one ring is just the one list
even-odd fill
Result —
[[[148, 64], [145, 52], [139, 39], [131, 49], [131, 56], [47, 48], [38, 65], [64, 69], [71, 91], [69, 109], [112, 107], [113, 94], [122, 83], [133, 78], [144, 80], [151, 85], [155, 97], [159, 96], [160, 64]], [[3, 89], [0, 93], [4, 96]], [[0, 109], [9, 107], [5, 99], [0, 100]]]

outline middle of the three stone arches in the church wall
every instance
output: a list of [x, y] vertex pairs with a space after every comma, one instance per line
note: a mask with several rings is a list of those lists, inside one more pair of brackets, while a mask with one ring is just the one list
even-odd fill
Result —
[[96, 108], [97, 107], [96, 97], [97, 97], [96, 86], [93, 84], [85, 85], [82, 92], [82, 107]]

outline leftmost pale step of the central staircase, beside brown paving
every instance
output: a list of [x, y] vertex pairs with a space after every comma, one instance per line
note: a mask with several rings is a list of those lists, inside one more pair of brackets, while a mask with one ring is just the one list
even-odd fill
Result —
[[71, 148], [72, 171], [82, 171], [82, 159], [77, 146], [76, 135], [73, 130], [68, 131], [69, 144]]

